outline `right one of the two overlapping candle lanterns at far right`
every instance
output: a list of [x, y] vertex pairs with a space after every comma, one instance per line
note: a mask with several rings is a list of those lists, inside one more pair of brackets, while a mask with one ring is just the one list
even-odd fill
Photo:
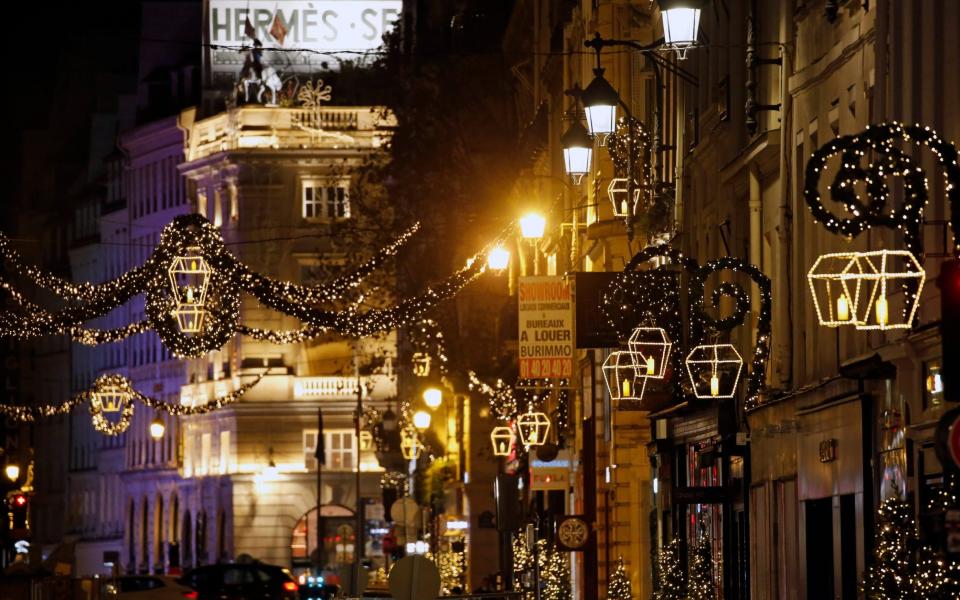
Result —
[[[906, 250], [877, 250], [861, 252], [859, 258], [869, 265], [868, 269], [852, 279], [869, 290], [869, 303], [857, 323], [859, 330], [910, 329], [920, 306], [920, 294], [927, 273], [920, 261]], [[903, 293], [904, 284], [914, 284], [916, 295], [912, 298]], [[891, 294], [898, 293], [898, 305], [893, 306]], [[904, 305], [906, 302], [906, 305]], [[896, 308], [897, 310], [894, 310]]]

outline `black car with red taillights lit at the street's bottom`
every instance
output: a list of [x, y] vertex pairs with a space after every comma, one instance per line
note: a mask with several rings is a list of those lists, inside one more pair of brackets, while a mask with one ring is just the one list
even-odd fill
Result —
[[196, 600], [300, 600], [290, 571], [260, 562], [197, 567], [180, 583], [196, 591]]

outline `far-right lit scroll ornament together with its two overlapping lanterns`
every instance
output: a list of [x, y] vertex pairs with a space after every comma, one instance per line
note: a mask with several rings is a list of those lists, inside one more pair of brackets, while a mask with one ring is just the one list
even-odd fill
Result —
[[[807, 277], [821, 325], [835, 327], [852, 324], [857, 329], [880, 330], [905, 329], [913, 325], [924, 284], [924, 278], [919, 275], [923, 271], [920, 263], [923, 258], [921, 227], [923, 211], [929, 200], [929, 182], [924, 170], [896, 146], [900, 142], [929, 148], [943, 167], [946, 195], [950, 203], [953, 253], [960, 254], [960, 236], [957, 231], [960, 224], [960, 164], [956, 146], [929, 127], [897, 122], [870, 125], [856, 135], [842, 136], [827, 142], [814, 152], [807, 162], [804, 198], [814, 220], [822, 223], [827, 231], [847, 239], [852, 239], [874, 226], [902, 231], [909, 259], [902, 262], [905, 267], [902, 272], [891, 272], [887, 269], [886, 255], [881, 258], [882, 264], [871, 263], [868, 272], [872, 270], [882, 276], [874, 277], [877, 285], [871, 292], [869, 304], [863, 307], [862, 314], [857, 315], [859, 318], [853, 319], [836, 318], [832, 306], [826, 311], [826, 318], [824, 317], [815, 282], [820, 288], [830, 285], [837, 287], [844, 277], [848, 277], [849, 269], [825, 271], [822, 261], [818, 260]], [[864, 166], [863, 161], [868, 153], [873, 157], [873, 161]], [[830, 199], [843, 206], [845, 214], [842, 216], [827, 209], [820, 193], [820, 177], [833, 157], [839, 157], [840, 167], [830, 184]], [[892, 203], [888, 205], [891, 193], [891, 187], [887, 184], [888, 177], [899, 177], [903, 183], [904, 201], [899, 208], [892, 206]], [[865, 184], [866, 199], [861, 198], [855, 188], [855, 184], [861, 182]], [[869, 260], [868, 253], [854, 254], [858, 259], [864, 257]], [[876, 293], [875, 288], [878, 286], [885, 291], [889, 279], [901, 280], [904, 290], [900, 320], [890, 316], [886, 294]], [[852, 299], [839, 296], [835, 301], [836, 314], [840, 317], [846, 316]], [[867, 320], [871, 313], [875, 316], [873, 322], [869, 323]]]

